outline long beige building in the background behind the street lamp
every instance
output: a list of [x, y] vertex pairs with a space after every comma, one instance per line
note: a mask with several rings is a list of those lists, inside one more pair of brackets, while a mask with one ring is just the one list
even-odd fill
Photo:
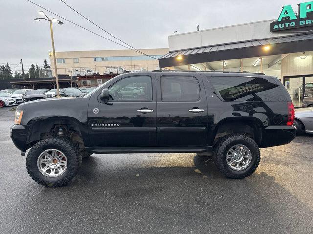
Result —
[[[133, 50], [91, 50], [56, 52], [58, 74], [70, 75], [75, 69], [91, 69], [101, 75], [107, 67], [123, 67], [127, 70], [159, 69], [158, 58], [168, 53], [168, 48], [139, 49], [149, 56]], [[49, 53], [51, 68], [54, 74], [53, 54]]]

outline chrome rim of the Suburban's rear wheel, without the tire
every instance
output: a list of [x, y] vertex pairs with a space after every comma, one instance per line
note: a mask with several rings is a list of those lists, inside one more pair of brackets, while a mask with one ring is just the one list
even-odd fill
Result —
[[245, 145], [234, 145], [227, 151], [227, 164], [235, 171], [245, 170], [250, 165], [251, 160], [251, 151]]

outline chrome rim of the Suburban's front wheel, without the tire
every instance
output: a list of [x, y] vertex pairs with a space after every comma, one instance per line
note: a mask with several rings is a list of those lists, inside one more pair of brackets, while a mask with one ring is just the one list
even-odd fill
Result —
[[67, 169], [67, 157], [59, 150], [48, 149], [38, 157], [37, 167], [47, 177], [58, 177]]

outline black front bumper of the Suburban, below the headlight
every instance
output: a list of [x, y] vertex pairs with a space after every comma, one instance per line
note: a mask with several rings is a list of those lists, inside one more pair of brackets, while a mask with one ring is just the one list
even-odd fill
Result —
[[10, 137], [19, 150], [26, 152], [27, 150], [27, 136], [28, 136], [28, 130], [29, 126], [28, 125], [13, 125], [10, 128]]

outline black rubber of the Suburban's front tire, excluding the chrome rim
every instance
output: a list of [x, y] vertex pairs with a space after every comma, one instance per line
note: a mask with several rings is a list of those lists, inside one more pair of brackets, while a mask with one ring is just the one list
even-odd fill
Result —
[[[67, 169], [58, 177], [44, 176], [37, 167], [39, 155], [47, 149], [60, 150], [67, 157]], [[60, 187], [66, 185], [76, 176], [81, 161], [82, 155], [72, 142], [67, 139], [53, 137], [37, 142], [30, 149], [26, 157], [26, 168], [29, 176], [38, 184], [46, 187]]]

